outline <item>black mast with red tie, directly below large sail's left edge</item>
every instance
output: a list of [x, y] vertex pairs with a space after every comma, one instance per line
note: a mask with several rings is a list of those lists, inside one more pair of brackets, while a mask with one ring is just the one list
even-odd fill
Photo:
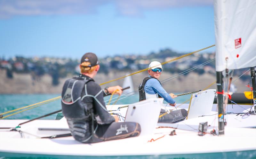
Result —
[[223, 89], [222, 89], [222, 72], [216, 71], [217, 77], [217, 103], [218, 103], [218, 121], [219, 121], [219, 134], [224, 135], [224, 109], [223, 109]]

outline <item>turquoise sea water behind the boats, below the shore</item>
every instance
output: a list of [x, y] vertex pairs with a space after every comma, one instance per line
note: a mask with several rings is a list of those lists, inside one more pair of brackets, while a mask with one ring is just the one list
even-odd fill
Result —
[[[179, 94], [179, 93], [176, 93], [176, 94]], [[38, 102], [42, 102], [47, 99], [52, 99], [58, 96], [60, 96], [60, 94], [0, 94], [0, 113], [11, 111], [11, 110], [28, 106], [31, 104], [35, 104]], [[113, 104], [116, 101], [117, 97], [118, 95], [113, 95], [113, 98], [111, 99], [112, 103], [110, 104]], [[106, 101], [106, 105], [108, 104], [107, 100], [109, 98], [110, 96], [104, 97], [104, 100]], [[177, 97], [175, 98], [175, 100], [177, 103], [182, 103], [189, 98], [190, 98], [190, 95], [185, 95], [185, 96]], [[116, 104], [131, 104], [131, 103], [138, 102], [138, 100], [139, 100], [138, 94], [134, 94], [129, 97], [120, 96]], [[60, 109], [61, 109], [60, 99], [58, 99], [56, 101], [41, 105], [39, 107], [35, 107], [30, 110], [26, 110], [24, 112], [20, 112], [18, 114], [6, 117], [5, 119], [33, 119], [48, 113], [52, 113]], [[21, 110], [24, 110], [24, 109], [21, 109]], [[15, 111], [15, 112], [18, 112], [18, 111]], [[12, 113], [15, 113], [15, 112], [12, 112]], [[6, 115], [10, 115], [12, 113], [8, 113]], [[56, 118], [56, 114], [44, 117], [42, 119], [55, 119], [55, 118]]]

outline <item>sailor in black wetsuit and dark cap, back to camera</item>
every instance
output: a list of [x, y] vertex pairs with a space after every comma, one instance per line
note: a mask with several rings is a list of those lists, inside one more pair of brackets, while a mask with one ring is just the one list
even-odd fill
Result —
[[120, 86], [106, 87], [92, 79], [100, 68], [94, 53], [86, 53], [81, 59], [81, 75], [68, 79], [61, 94], [62, 113], [66, 117], [72, 136], [83, 143], [95, 143], [113, 139], [134, 137], [140, 134], [140, 125], [133, 122], [118, 123], [118, 118], [109, 115], [103, 96], [116, 91]]

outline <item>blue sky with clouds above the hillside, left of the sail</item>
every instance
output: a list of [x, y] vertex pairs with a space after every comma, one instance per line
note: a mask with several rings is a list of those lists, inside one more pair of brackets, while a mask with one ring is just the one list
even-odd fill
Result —
[[165, 48], [188, 53], [212, 44], [210, 0], [0, 0], [5, 58], [146, 55]]

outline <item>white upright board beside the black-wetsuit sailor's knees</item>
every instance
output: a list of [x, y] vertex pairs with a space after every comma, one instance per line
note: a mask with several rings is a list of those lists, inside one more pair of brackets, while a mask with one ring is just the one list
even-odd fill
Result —
[[140, 136], [153, 134], [163, 101], [163, 98], [147, 99], [129, 105], [124, 121], [139, 123], [141, 128]]

